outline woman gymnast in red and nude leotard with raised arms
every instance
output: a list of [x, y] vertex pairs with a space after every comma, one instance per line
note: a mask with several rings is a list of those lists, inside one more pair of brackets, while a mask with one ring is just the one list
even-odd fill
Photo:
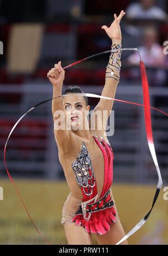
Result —
[[[110, 54], [101, 95], [113, 99], [120, 78], [120, 20], [124, 15], [124, 11], [118, 17], [114, 14], [111, 26], [101, 27], [112, 40], [111, 49], [116, 50]], [[52, 113], [59, 161], [70, 189], [61, 221], [68, 244], [92, 244], [92, 233], [99, 244], [116, 244], [125, 232], [111, 190], [114, 156], [105, 130], [114, 101], [100, 99], [88, 122], [90, 105], [86, 96], [77, 95], [83, 93], [80, 87], [69, 86], [62, 94], [65, 71], [61, 62], [47, 75], [53, 85], [53, 98], [62, 95], [52, 100]], [[108, 115], [102, 114], [104, 110]], [[127, 239], [120, 244], [128, 244]]]

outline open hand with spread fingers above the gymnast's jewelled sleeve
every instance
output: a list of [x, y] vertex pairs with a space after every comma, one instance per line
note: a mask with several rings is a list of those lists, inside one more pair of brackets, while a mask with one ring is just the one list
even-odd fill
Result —
[[122, 32], [120, 30], [120, 21], [122, 20], [122, 17], [125, 15], [124, 11], [120, 12], [120, 15], [117, 17], [116, 14], [114, 14], [114, 21], [111, 23], [110, 27], [102, 26], [101, 29], [104, 29], [106, 33], [108, 34], [109, 38], [121, 40], [122, 39]]

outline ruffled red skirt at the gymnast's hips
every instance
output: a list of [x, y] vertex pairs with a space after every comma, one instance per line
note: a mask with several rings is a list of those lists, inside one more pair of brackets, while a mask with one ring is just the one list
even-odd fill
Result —
[[101, 211], [92, 212], [90, 220], [87, 221], [83, 215], [79, 214], [72, 218], [72, 222], [77, 226], [84, 227], [87, 233], [103, 235], [110, 231], [110, 225], [116, 222], [116, 208], [112, 206]]

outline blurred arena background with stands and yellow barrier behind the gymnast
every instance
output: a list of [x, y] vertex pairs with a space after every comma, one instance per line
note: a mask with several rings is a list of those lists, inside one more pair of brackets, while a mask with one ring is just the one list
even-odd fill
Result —
[[[45, 244], [32, 226], [4, 166], [3, 150], [17, 120], [32, 106], [52, 99], [46, 73], [105, 50], [111, 39], [101, 29], [113, 14], [120, 23], [123, 48], [138, 48], [147, 69], [150, 104], [168, 113], [168, 2], [166, 0], [1, 0], [0, 1], [0, 244]], [[2, 47], [3, 45], [3, 47]], [[166, 52], [165, 52], [166, 53]], [[168, 51], [167, 51], [168, 53]], [[109, 54], [66, 69], [63, 91], [69, 85], [101, 95]], [[143, 104], [137, 52], [122, 54], [116, 99]], [[99, 100], [88, 98], [91, 109]], [[52, 101], [38, 106], [17, 125], [8, 141], [6, 161], [12, 179], [39, 231], [53, 244], [67, 244], [60, 224], [69, 188], [58, 159], [53, 133]], [[147, 144], [142, 106], [114, 101], [112, 190], [120, 221], [127, 233], [150, 210], [157, 171]], [[168, 184], [168, 122], [151, 109], [152, 131], [163, 187]], [[167, 244], [168, 204], [160, 195], [146, 224], [129, 244]], [[94, 243], [97, 244], [93, 235]]]

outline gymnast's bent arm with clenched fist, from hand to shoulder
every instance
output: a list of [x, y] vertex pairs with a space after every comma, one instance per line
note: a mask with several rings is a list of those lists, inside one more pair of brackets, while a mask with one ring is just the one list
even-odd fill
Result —
[[68, 142], [69, 130], [66, 129], [66, 112], [62, 99], [62, 86], [65, 71], [61, 66], [61, 62], [58, 62], [58, 64], [54, 65], [54, 68], [50, 69], [47, 73], [47, 77], [53, 85], [53, 98], [60, 96], [52, 100], [52, 113], [55, 140], [59, 146], [64, 146], [64, 142]]

